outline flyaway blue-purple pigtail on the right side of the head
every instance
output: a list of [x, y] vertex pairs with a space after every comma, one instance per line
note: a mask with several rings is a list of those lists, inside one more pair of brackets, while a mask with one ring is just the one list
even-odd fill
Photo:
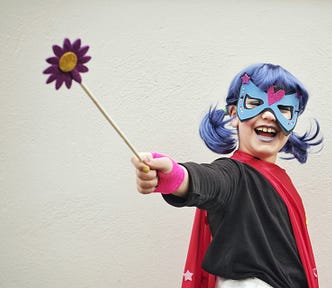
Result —
[[[309, 131], [305, 132], [302, 136], [292, 133], [281, 152], [293, 154], [293, 157], [282, 157], [283, 159], [296, 158], [300, 163], [305, 163], [308, 158], [310, 148], [319, 146], [323, 142], [323, 137], [320, 135], [320, 126], [317, 120], [315, 124], [311, 125]], [[314, 127], [313, 127], [314, 126]], [[322, 149], [318, 150], [318, 152]]]

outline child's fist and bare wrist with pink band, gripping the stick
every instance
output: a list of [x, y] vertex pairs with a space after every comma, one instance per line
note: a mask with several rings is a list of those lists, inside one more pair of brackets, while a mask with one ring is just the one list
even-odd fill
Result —
[[[158, 153], [140, 154], [143, 162], [131, 159], [136, 168], [137, 190], [142, 194], [160, 192], [185, 198], [188, 193], [189, 176], [185, 167], [168, 156]], [[148, 172], [146, 167], [149, 167]]]

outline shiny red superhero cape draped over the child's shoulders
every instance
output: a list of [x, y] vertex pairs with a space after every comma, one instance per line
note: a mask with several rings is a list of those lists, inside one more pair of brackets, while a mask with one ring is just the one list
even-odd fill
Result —
[[[318, 288], [317, 269], [309, 239], [306, 215], [300, 195], [285, 170], [279, 166], [236, 151], [232, 159], [246, 163], [260, 172], [286, 204], [291, 221], [300, 259], [307, 277], [309, 288]], [[190, 244], [182, 279], [182, 288], [214, 288], [215, 276], [201, 267], [202, 261], [211, 242], [211, 232], [205, 210], [196, 209]]]

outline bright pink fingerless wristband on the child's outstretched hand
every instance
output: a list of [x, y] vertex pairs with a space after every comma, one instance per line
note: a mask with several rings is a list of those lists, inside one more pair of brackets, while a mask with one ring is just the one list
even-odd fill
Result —
[[167, 157], [172, 161], [173, 168], [169, 173], [162, 173], [158, 171], [158, 186], [154, 192], [160, 192], [162, 194], [171, 194], [175, 192], [183, 182], [184, 170], [176, 163], [172, 158], [159, 153], [152, 153], [153, 158]]

